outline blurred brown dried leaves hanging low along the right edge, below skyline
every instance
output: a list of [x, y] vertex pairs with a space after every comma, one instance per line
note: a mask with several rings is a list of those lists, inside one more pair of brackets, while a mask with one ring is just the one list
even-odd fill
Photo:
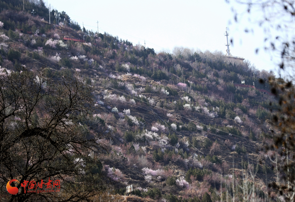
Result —
[[[294, 85], [283, 80], [270, 79], [272, 92], [279, 99], [281, 108], [273, 115], [275, 153], [269, 156], [274, 165], [276, 181], [271, 186], [286, 201], [295, 195], [295, 94]], [[279, 169], [281, 168], [281, 169]]]

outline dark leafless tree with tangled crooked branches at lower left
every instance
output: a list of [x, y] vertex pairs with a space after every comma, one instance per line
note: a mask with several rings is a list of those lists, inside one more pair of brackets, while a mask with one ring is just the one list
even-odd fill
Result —
[[[2, 198], [88, 201], [101, 184], [96, 154], [106, 136], [101, 120], [91, 115], [91, 88], [76, 77], [46, 78], [19, 67], [15, 72], [2, 69], [0, 89]], [[16, 195], [6, 192], [11, 179], [20, 182]], [[59, 180], [60, 192], [28, 192], [50, 180]], [[32, 189], [31, 181], [36, 184]]]

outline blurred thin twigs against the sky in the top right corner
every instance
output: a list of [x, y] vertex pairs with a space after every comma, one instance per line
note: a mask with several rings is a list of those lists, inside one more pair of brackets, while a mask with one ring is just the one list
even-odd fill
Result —
[[[226, 0], [227, 1], [227, 0]], [[229, 2], [229, 1], [228, 1]], [[267, 45], [265, 49], [271, 50], [281, 57], [279, 70], [285, 70], [287, 76], [294, 80], [295, 68], [295, 2], [294, 0], [236, 0], [245, 5], [245, 10], [254, 16], [255, 22], [263, 27]], [[235, 21], [242, 16], [235, 11]], [[245, 12], [243, 12], [245, 13]], [[245, 28], [245, 32], [249, 32]], [[256, 49], [258, 51], [258, 49]]]

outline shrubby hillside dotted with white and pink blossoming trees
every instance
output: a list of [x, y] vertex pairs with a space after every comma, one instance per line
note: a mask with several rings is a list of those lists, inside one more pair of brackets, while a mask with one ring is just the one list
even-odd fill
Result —
[[[268, 158], [271, 152], [266, 155], [265, 148], [273, 143], [272, 130], [276, 129], [271, 116], [280, 105], [274, 95], [258, 90], [272, 92], [268, 77], [273, 74], [259, 71], [249, 61], [229, 59], [222, 52], [192, 52], [176, 47], [173, 54], [156, 53], [153, 48], [134, 45], [127, 39], [81, 29], [77, 23], [70, 23], [65, 12], [60, 13], [65, 22], [49, 24], [48, 9], [40, 2], [28, 3], [22, 11], [22, 1], [0, 1], [1, 80], [5, 83], [4, 78], [27, 72], [32, 78], [29, 84], [37, 78], [50, 81], [40, 83], [40, 92], [64, 78], [81, 82], [81, 89], [86, 89], [84, 101], [89, 104], [79, 106], [89, 109], [82, 112], [75, 108], [76, 115], [69, 110], [65, 113], [68, 118], [64, 115], [60, 120], [68, 127], [68, 133], [77, 130], [81, 137], [96, 141], [85, 148], [73, 141], [79, 151], [75, 153], [67, 141], [58, 146], [67, 151], [59, 155], [68, 155], [73, 165], [81, 166], [77, 173], [63, 173], [62, 169], [58, 174], [50, 173], [50, 169], [42, 170], [41, 163], [38, 169], [42, 171], [32, 172], [35, 164], [28, 163], [28, 159], [37, 162], [32, 153], [22, 158], [14, 156], [26, 165], [23, 170], [17, 166], [9, 170], [8, 161], [3, 161], [2, 201], [46, 197], [50, 201], [70, 201], [65, 187], [85, 179], [97, 183], [101, 190], [109, 190], [109, 195], [94, 189], [87, 196], [82, 194], [84, 198], [77, 196], [77, 200], [90, 197], [90, 201], [108, 201], [107, 197], [123, 195], [131, 184], [133, 195], [138, 197], [129, 197], [130, 201], [245, 201], [247, 197], [247, 201], [278, 200], [278, 195], [268, 188], [276, 180], [276, 173]], [[29, 11], [32, 8], [35, 16]], [[84, 35], [84, 43], [63, 40], [65, 36], [82, 40]], [[246, 85], [254, 83], [255, 88], [236, 85], [242, 80]], [[22, 86], [20, 83], [16, 86]], [[63, 85], [67, 84], [65, 81]], [[52, 92], [56, 89], [63, 87], [52, 87]], [[62, 93], [59, 95], [63, 97]], [[40, 98], [40, 102], [47, 106], [46, 102], [53, 99], [50, 96]], [[6, 103], [4, 99], [1, 102]], [[1, 116], [5, 117], [8, 112], [3, 106]], [[27, 127], [37, 124], [41, 128], [42, 120], [49, 117], [46, 108], [33, 112], [35, 122]], [[84, 114], [80, 117], [81, 113]], [[2, 134], [12, 130], [9, 124], [17, 122], [17, 118], [22, 122], [21, 115], [11, 116], [2, 122]], [[17, 124], [25, 125], [25, 121]], [[72, 124], [76, 128], [71, 128]], [[103, 135], [95, 139], [96, 134]], [[20, 147], [21, 141], [16, 145]], [[91, 159], [95, 163], [88, 167], [86, 162]], [[52, 158], [52, 162], [62, 161]], [[97, 171], [88, 172], [93, 166]], [[41, 180], [35, 172], [62, 178], [62, 193], [67, 194], [57, 199], [42, 194], [28, 196], [22, 188], [13, 198], [6, 192], [7, 179], [19, 176]]]

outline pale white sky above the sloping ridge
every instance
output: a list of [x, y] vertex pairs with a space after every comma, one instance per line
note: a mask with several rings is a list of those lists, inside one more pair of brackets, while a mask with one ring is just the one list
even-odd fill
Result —
[[[107, 32], [122, 40], [128, 39], [134, 45], [146, 43], [146, 47], [172, 52], [173, 47], [183, 46], [203, 51], [215, 50], [226, 54], [225, 28], [230, 30], [233, 44], [230, 52], [234, 56], [248, 59], [258, 69], [273, 70], [277, 73], [278, 61], [273, 53], [265, 52], [266, 37], [263, 28], [249, 22], [249, 15], [234, 20], [232, 8], [245, 11], [246, 7], [224, 0], [108, 0], [108, 1], [60, 1], [47, 0], [47, 5], [58, 11], [65, 11], [81, 27]], [[252, 14], [255, 20], [255, 16]], [[245, 33], [245, 28], [250, 30]], [[253, 32], [251, 31], [253, 29]], [[256, 48], [260, 51], [255, 53]], [[277, 62], [278, 63], [278, 62]]]

